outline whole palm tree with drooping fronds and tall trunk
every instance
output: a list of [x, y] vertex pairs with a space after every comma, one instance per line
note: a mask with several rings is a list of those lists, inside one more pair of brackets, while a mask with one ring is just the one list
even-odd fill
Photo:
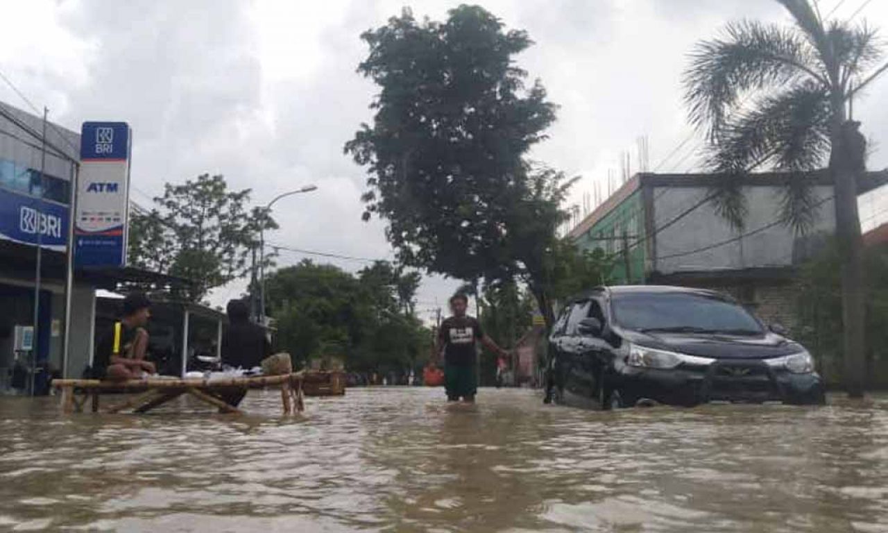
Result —
[[888, 64], [876, 68], [882, 51], [866, 23], [823, 20], [808, 0], [778, 2], [794, 26], [744, 20], [696, 46], [685, 73], [686, 102], [691, 122], [707, 134], [707, 166], [724, 176], [712, 193], [716, 211], [735, 227], [747, 209], [732, 178], [769, 165], [789, 176], [781, 220], [804, 232], [820, 204], [811, 171], [828, 164], [843, 260], [845, 380], [848, 393], [860, 396], [865, 300], [857, 179], [866, 143], [848, 107]]

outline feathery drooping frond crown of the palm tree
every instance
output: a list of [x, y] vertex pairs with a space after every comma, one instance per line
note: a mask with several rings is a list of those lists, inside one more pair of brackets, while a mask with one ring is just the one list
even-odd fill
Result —
[[742, 227], [746, 200], [732, 182], [770, 165], [789, 172], [779, 216], [801, 233], [817, 211], [810, 171], [827, 163], [845, 103], [874, 79], [882, 52], [866, 23], [824, 21], [806, 0], [780, 1], [794, 27], [743, 20], [697, 45], [686, 101], [710, 139], [708, 166], [725, 177], [714, 191], [718, 212]]

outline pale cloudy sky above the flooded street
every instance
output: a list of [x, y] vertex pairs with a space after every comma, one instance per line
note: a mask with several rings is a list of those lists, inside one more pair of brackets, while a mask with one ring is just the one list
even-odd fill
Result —
[[[839, 4], [841, 2], [841, 4]], [[409, 6], [442, 19], [459, 2], [290, 0], [118, 2], [0, 0], [0, 72], [50, 118], [79, 131], [87, 120], [133, 130], [131, 199], [150, 206], [165, 182], [223, 174], [261, 205], [308, 184], [318, 189], [275, 204], [281, 229], [268, 243], [361, 259], [392, 259], [385, 221], [361, 221], [366, 173], [343, 154], [377, 91], [356, 73], [360, 35]], [[638, 171], [699, 171], [700, 141], [686, 120], [681, 74], [694, 43], [729, 20], [788, 23], [774, 0], [488, 0], [507, 28], [535, 45], [517, 58], [539, 78], [559, 120], [532, 157], [581, 175], [571, 202], [594, 201], [618, 175], [622, 154]], [[885, 0], [820, 0], [821, 12], [888, 21]], [[888, 28], [885, 29], [888, 31]], [[0, 100], [26, 104], [0, 83]], [[855, 103], [870, 139], [870, 169], [888, 167], [888, 76]], [[682, 143], [688, 140], [684, 145]], [[677, 147], [682, 146], [678, 151]], [[615, 178], [614, 178], [615, 179]], [[597, 184], [597, 185], [596, 185]], [[888, 219], [888, 193], [861, 200], [865, 228]], [[581, 208], [582, 211], [582, 208]], [[312, 256], [281, 251], [279, 264]], [[357, 259], [321, 259], [355, 271]], [[429, 276], [417, 309], [429, 316], [459, 282]], [[244, 282], [215, 290], [214, 305]]]

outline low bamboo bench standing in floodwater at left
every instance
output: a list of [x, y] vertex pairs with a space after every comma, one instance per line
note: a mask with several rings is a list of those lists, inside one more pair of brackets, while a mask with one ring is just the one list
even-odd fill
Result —
[[[312, 372], [309, 372], [309, 374]], [[258, 376], [256, 378], [215, 379], [131, 379], [110, 381], [99, 379], [53, 379], [52, 386], [61, 391], [62, 410], [66, 413], [83, 412], [86, 402], [91, 401], [92, 412], [99, 412], [99, 396], [115, 393], [140, 393], [125, 402], [109, 407], [105, 412], [117, 413], [132, 410], [145, 413], [188, 394], [220, 412], [240, 413], [237, 405], [229, 400], [241, 398], [250, 389], [280, 387], [283, 413], [289, 415], [294, 408], [305, 410], [303, 383], [306, 372], [294, 372], [282, 376]]]

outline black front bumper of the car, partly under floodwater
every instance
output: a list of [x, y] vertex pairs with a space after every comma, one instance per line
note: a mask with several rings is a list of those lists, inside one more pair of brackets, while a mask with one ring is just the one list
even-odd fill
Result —
[[615, 384], [624, 402], [638, 400], [675, 405], [706, 402], [784, 402], [822, 404], [823, 380], [816, 372], [793, 374], [758, 360], [719, 360], [706, 367], [672, 370], [625, 366]]

